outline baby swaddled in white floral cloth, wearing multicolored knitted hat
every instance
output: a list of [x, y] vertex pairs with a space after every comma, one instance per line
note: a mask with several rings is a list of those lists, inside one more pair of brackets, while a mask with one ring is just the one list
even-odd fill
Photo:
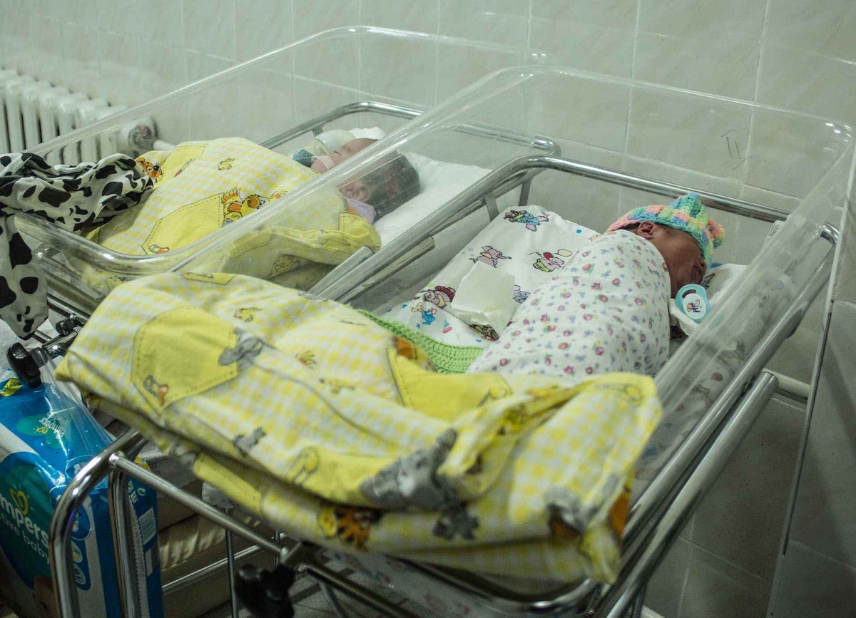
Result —
[[669, 354], [669, 298], [701, 282], [722, 235], [695, 193], [628, 212], [533, 291], [467, 371], [655, 375]]

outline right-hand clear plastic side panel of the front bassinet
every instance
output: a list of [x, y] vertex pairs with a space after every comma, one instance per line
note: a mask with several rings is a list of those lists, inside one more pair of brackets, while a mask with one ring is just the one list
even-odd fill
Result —
[[[735, 394], [770, 360], [799, 324], [791, 321], [794, 300], [814, 283], [824, 294], [835, 254], [837, 230], [825, 221], [847, 203], [849, 157], [841, 157], [764, 242], [728, 298], [716, 306], [657, 375], [663, 419], [639, 461], [634, 493], [639, 496], [705, 419], [716, 398], [746, 369]], [[825, 268], [824, 268], [825, 266]], [[806, 296], [802, 311], [813, 297]], [[794, 321], [796, 320], [796, 321]], [[776, 327], [785, 329], [776, 336]], [[769, 343], [769, 345], [768, 345]], [[813, 352], [813, 350], [811, 350]], [[749, 371], [754, 367], [754, 371]]]

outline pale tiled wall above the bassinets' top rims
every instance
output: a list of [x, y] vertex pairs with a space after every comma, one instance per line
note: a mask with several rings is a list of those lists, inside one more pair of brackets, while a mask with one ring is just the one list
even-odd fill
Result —
[[371, 24], [529, 45], [570, 67], [856, 121], [851, 0], [0, 0], [0, 10], [3, 65], [114, 103]]

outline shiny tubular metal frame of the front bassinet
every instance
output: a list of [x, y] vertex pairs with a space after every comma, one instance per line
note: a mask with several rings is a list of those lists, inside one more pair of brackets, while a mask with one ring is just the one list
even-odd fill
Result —
[[[371, 259], [355, 254], [319, 282], [312, 291], [331, 300], [354, 300], [366, 290], [384, 282], [390, 272], [412, 264], [413, 260], [435, 247], [433, 235], [437, 232], [449, 228], [482, 208], [489, 212], [491, 218], [496, 217], [497, 195], [507, 191], [508, 187], [515, 183], [519, 184], [521, 179], [531, 180], [534, 173], [543, 169], [584, 175], [669, 197], [694, 190], [691, 187], [651, 180], [561, 157], [520, 157], [496, 169], [431, 216], [425, 217], [395, 241], [382, 247]], [[785, 211], [764, 205], [700, 190], [696, 193], [715, 202], [715, 207], [741, 216], [767, 222], [780, 221], [788, 216]], [[782, 342], [794, 332], [811, 301], [829, 282], [838, 232], [829, 224], [823, 224], [819, 229], [819, 236], [827, 241], [830, 247], [819, 260], [813, 275], [808, 277], [781, 317], [746, 356], [743, 364], [712, 401], [707, 412], [681, 442], [657, 477], [633, 502], [625, 532], [621, 571], [613, 585], [608, 587], [586, 579], [568, 584], [541, 586], [537, 591], [520, 591], [478, 573], [464, 573], [424, 564], [412, 565], [413, 569], [431, 578], [437, 586], [472, 597], [474, 603], [495, 615], [586, 615], [613, 618], [624, 615], [627, 611], [638, 612], [644, 600], [646, 580], [675, 540], [704, 491], [710, 487], [716, 474], [728, 461], [752, 421], [776, 391], [778, 381], [774, 375], [764, 371], [764, 366]], [[217, 508], [134, 464], [134, 454], [142, 442], [142, 437], [134, 431], [120, 437], [80, 471], [68, 485], [68, 490], [57, 505], [51, 524], [50, 555], [56, 582], [56, 600], [62, 608], [63, 616], [79, 616], [74, 600], [70, 553], [70, 532], [74, 518], [86, 500], [88, 491], [106, 477], [110, 478], [116, 556], [123, 582], [123, 607], [125, 615], [139, 615], [134, 600], [135, 563], [128, 550], [130, 545], [126, 526], [123, 525], [128, 518], [128, 503], [122, 488], [126, 485], [128, 476], [150, 484], [176, 502], [223, 526], [227, 531], [246, 538], [261, 550], [275, 554], [282, 564], [312, 575], [318, 580], [325, 594], [332, 595], [332, 590], [336, 589], [384, 614], [402, 617], [413, 615], [407, 609], [389, 603], [383, 596], [354, 584], [327, 567], [327, 558], [322, 548], [282, 538], [280, 535], [274, 539], [265, 538]], [[230, 573], [234, 574], [233, 558], [234, 556], [229, 556], [229, 568]]]

